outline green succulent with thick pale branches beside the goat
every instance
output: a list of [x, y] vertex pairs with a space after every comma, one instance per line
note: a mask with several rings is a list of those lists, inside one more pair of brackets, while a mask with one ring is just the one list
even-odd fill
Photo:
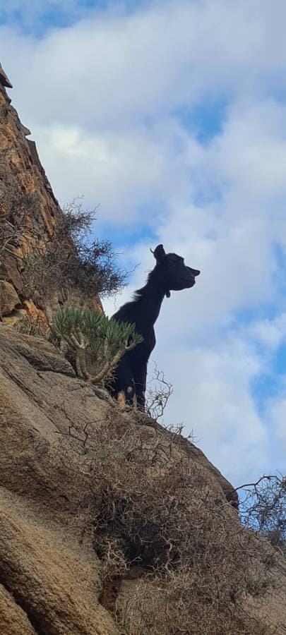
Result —
[[78, 377], [93, 384], [110, 377], [124, 353], [143, 341], [134, 324], [109, 320], [94, 310], [66, 308], [54, 317], [46, 310], [46, 315], [52, 332], [75, 351]]

